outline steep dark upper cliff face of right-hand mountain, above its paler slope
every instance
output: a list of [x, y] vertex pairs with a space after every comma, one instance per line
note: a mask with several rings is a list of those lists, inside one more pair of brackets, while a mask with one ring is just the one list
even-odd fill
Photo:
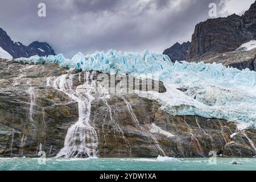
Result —
[[214, 58], [216, 53], [234, 51], [243, 43], [255, 39], [255, 12], [256, 2], [242, 16], [233, 14], [197, 24], [192, 35], [188, 60], [207, 62], [207, 59]]

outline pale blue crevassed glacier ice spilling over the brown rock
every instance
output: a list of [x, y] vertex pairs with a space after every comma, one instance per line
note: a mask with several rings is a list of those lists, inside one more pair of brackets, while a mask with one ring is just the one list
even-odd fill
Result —
[[175, 62], [166, 55], [142, 53], [81, 52], [72, 59], [62, 54], [15, 59], [27, 64], [59, 64], [60, 67], [130, 74], [143, 77], [157, 74], [167, 88], [166, 93], [141, 92], [139, 96], [154, 99], [172, 115], [199, 115], [227, 119], [231, 122], [256, 123], [256, 72], [226, 68], [222, 64]]

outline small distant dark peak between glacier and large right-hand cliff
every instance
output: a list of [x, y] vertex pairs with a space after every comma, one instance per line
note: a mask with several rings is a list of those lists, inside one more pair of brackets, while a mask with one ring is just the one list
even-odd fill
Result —
[[185, 61], [187, 60], [189, 46], [191, 46], [190, 42], [176, 43], [174, 46], [164, 50], [163, 55], [169, 56], [172, 62]]

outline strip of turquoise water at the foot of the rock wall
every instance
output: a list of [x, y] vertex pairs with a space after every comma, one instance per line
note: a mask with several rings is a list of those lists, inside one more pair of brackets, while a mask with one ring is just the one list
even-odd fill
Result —
[[233, 158], [181, 158], [180, 162], [160, 162], [157, 159], [60, 159], [60, 158], [0, 158], [0, 171], [6, 170], [79, 170], [79, 171], [256, 171], [255, 158], [236, 158], [241, 165], [230, 164]]

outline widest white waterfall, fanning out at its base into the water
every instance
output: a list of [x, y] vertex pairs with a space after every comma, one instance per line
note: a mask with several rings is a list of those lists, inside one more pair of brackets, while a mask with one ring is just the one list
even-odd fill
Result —
[[[90, 72], [85, 72], [85, 82], [82, 91], [79, 86], [73, 86], [75, 75], [62, 75], [47, 79], [47, 85], [64, 92], [72, 100], [78, 103], [79, 119], [69, 127], [65, 137], [64, 147], [57, 154], [57, 157], [76, 158], [81, 156], [97, 157], [98, 156], [98, 137], [94, 127], [90, 126], [90, 107], [94, 100], [92, 92], [95, 89], [96, 80]], [[94, 74], [94, 73], [93, 73]], [[80, 76], [79, 76], [80, 79]], [[84, 91], [85, 90], [85, 91]]]

